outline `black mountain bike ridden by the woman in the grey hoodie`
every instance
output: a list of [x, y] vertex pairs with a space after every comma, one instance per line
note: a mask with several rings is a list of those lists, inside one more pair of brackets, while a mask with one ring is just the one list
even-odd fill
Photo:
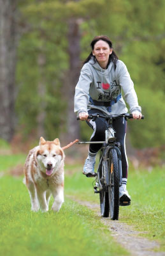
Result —
[[[116, 141], [115, 130], [113, 129], [113, 120], [124, 117], [126, 120], [133, 118], [133, 115], [126, 113], [120, 115], [91, 114], [88, 116], [93, 121], [96, 118], [104, 118], [107, 123], [105, 131], [105, 141], [78, 141], [82, 143], [101, 143], [103, 147], [100, 151], [99, 166], [97, 173], [86, 175], [87, 177], [96, 177], [94, 193], [99, 193], [101, 216], [109, 217], [111, 220], [118, 220], [119, 205], [130, 205], [130, 201], [119, 204], [119, 187], [122, 186], [122, 157], [120, 152], [120, 143]], [[141, 119], [143, 119], [142, 116]], [[77, 118], [80, 120], [80, 118]]]

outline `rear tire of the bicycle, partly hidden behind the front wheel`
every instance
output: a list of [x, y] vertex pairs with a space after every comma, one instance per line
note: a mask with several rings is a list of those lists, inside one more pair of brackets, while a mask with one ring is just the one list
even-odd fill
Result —
[[[101, 159], [102, 151], [100, 153], [99, 159]], [[102, 177], [102, 169], [99, 171], [99, 179]], [[110, 205], [109, 205], [109, 198], [108, 198], [108, 191], [103, 186], [102, 189], [99, 191], [99, 199], [100, 199], [100, 210], [102, 217], [109, 217], [110, 215]]]

